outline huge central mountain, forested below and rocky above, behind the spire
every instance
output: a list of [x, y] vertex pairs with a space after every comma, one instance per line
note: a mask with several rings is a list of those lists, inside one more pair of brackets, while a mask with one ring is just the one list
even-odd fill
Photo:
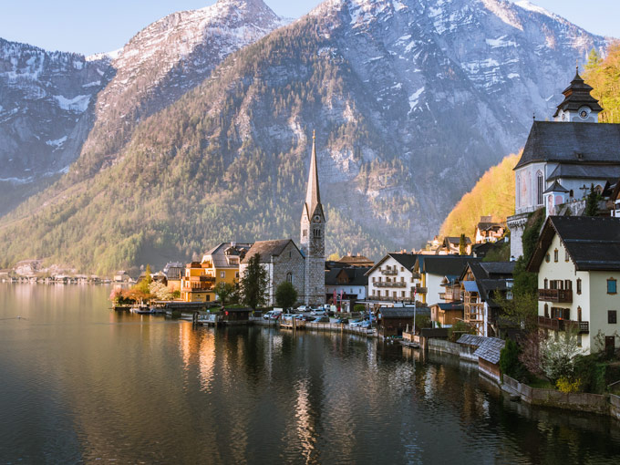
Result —
[[[101, 272], [220, 240], [297, 238], [312, 129], [328, 253], [418, 246], [522, 145], [532, 111], [551, 114], [575, 57], [604, 47], [522, 5], [329, 0], [143, 119], [109, 169], [83, 157], [70, 187], [6, 218], [3, 264]], [[77, 182], [84, 173], [98, 174]]]

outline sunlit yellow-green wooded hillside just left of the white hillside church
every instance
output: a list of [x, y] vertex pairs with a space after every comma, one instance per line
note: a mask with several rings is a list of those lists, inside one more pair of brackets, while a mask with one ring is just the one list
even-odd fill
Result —
[[441, 225], [443, 236], [473, 237], [480, 216], [492, 215], [496, 222], [505, 221], [514, 214], [514, 172], [519, 155], [509, 155], [501, 163], [485, 172], [471, 191], [449, 213]]

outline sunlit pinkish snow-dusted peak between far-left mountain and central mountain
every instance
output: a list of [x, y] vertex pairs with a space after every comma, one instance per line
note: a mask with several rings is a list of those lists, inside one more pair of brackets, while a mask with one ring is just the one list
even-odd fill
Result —
[[263, 0], [219, 0], [145, 27], [112, 61], [116, 76], [98, 95], [97, 121], [74, 171], [89, 176], [112, 162], [141, 119], [196, 87], [223, 58], [285, 23]]

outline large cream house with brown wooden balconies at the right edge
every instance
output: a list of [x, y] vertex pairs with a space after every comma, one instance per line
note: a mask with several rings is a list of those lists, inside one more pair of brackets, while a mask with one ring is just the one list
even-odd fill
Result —
[[620, 218], [549, 216], [527, 269], [542, 330], [575, 333], [587, 353], [620, 346]]

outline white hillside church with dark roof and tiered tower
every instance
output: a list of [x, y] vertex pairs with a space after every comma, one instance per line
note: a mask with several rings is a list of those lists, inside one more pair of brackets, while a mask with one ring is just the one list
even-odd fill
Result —
[[511, 255], [522, 255], [527, 215], [544, 206], [547, 215], [561, 202], [584, 198], [591, 185], [620, 177], [620, 125], [597, 124], [602, 110], [592, 88], [576, 74], [563, 90], [554, 121], [533, 121], [521, 160], [514, 167], [515, 214], [508, 218]]

